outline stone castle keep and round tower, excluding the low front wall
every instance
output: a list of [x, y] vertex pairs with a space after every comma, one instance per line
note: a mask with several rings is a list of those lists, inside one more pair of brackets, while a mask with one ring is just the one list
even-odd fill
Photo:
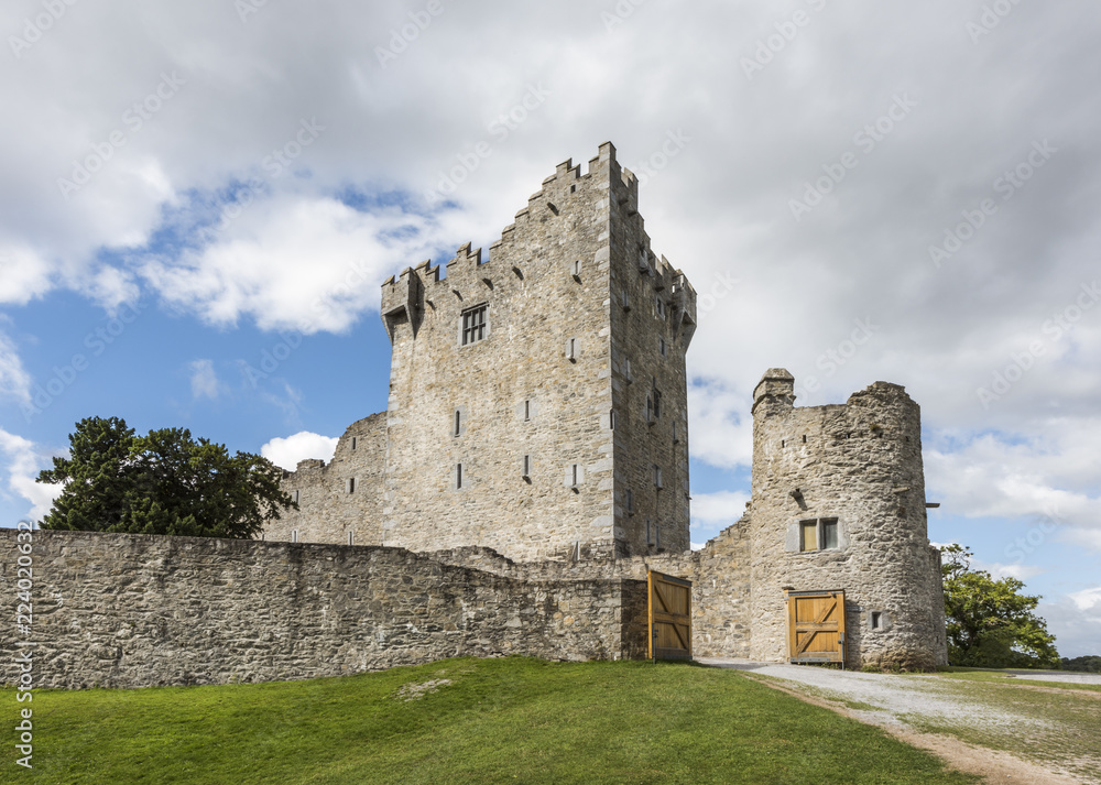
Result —
[[786, 592], [843, 589], [858, 661], [945, 664], [920, 414], [898, 385], [796, 408], [794, 378], [768, 370], [752, 502], [688, 552], [696, 293], [651, 249], [637, 185], [606, 143], [584, 175], [559, 164], [488, 261], [468, 243], [446, 275], [423, 262], [388, 280], [386, 412], [352, 424], [328, 465], [285, 476], [299, 509], [265, 537], [453, 560], [478, 546], [510, 574], [683, 575], [697, 584], [697, 651], [716, 655], [784, 658]]

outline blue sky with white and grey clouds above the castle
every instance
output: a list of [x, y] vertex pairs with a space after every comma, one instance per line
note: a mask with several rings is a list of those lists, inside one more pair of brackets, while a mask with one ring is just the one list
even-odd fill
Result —
[[385, 406], [381, 282], [610, 139], [700, 293], [693, 539], [744, 506], [766, 368], [896, 382], [930, 538], [1101, 653], [1101, 12], [989, 8], [11, 3], [0, 522], [89, 415], [324, 457]]

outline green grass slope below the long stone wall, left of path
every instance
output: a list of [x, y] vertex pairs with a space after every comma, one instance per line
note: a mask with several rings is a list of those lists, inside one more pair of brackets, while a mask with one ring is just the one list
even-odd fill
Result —
[[[407, 684], [451, 679], [404, 701]], [[12, 690], [0, 700], [14, 716]], [[732, 670], [449, 659], [345, 678], [40, 690], [18, 783], [974, 783]], [[6, 723], [9, 729], [14, 722]]]

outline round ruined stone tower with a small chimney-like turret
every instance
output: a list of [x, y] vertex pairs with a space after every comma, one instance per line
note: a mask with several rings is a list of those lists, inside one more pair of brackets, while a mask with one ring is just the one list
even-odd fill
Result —
[[796, 408], [794, 388], [770, 369], [753, 393], [750, 656], [787, 658], [786, 592], [844, 590], [850, 667], [946, 665], [918, 405], [875, 382]]

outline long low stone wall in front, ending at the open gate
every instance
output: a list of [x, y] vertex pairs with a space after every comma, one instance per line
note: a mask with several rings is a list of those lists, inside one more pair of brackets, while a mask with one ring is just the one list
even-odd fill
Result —
[[[4, 553], [15, 534], [0, 530]], [[14, 565], [0, 560], [4, 586]], [[645, 650], [641, 581], [523, 581], [397, 548], [39, 531], [33, 574], [37, 687], [226, 684], [456, 655], [589, 659]], [[2, 604], [14, 619], [14, 593]], [[13, 633], [0, 629], [0, 647], [12, 651]], [[0, 673], [3, 684], [18, 680], [11, 657]]]

